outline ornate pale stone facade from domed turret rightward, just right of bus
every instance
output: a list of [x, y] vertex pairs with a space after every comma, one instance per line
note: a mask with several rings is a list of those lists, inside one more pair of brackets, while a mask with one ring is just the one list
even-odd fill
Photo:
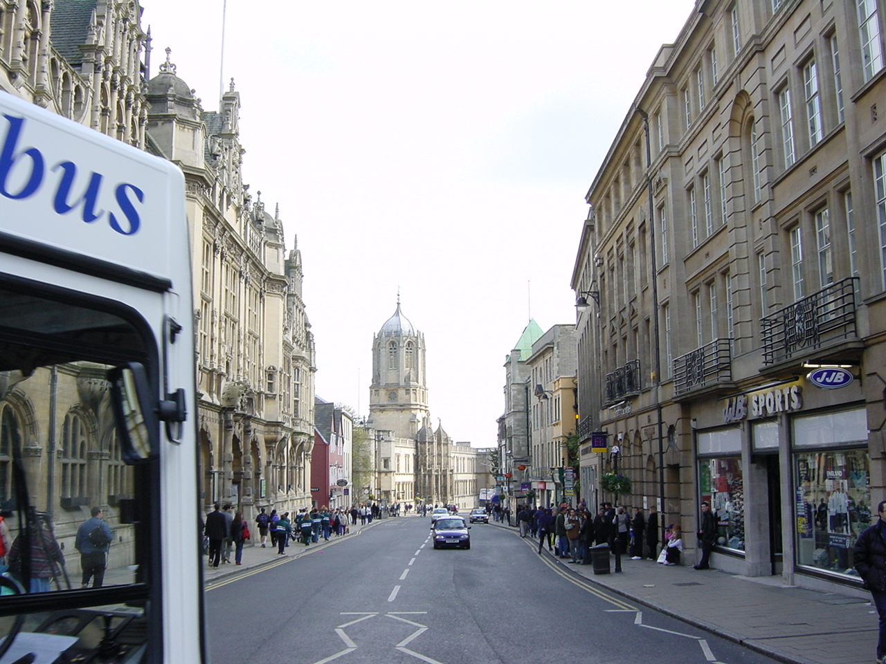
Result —
[[[185, 174], [198, 320], [199, 439], [204, 506], [311, 505], [314, 336], [301, 254], [242, 181], [240, 96], [204, 111], [167, 61], [147, 85], [149, 147]], [[323, 503], [325, 504], [325, 503]]]

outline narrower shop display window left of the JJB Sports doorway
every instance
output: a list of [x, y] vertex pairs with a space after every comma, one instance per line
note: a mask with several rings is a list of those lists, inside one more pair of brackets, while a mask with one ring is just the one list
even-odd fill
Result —
[[701, 500], [717, 518], [717, 544], [744, 551], [744, 478], [741, 457], [699, 459]]

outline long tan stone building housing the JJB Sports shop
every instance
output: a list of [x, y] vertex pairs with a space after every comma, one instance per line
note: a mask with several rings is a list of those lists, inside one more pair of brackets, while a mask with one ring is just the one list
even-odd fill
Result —
[[665, 523], [711, 501], [734, 573], [860, 591], [886, 484], [884, 21], [874, 0], [696, 3], [587, 193], [580, 437], [620, 441], [622, 501]]

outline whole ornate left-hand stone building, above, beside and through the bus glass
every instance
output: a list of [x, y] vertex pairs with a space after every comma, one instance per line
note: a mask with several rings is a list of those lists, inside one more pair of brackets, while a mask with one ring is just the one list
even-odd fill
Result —
[[[300, 253], [287, 253], [279, 214], [242, 181], [233, 84], [218, 112], [205, 111], [168, 50], [148, 81], [151, 39], [140, 16], [135, 1], [0, 0], [0, 90], [182, 167], [198, 307], [201, 507], [231, 500], [248, 515], [309, 506], [315, 358]], [[39, 475], [56, 479], [38, 492], [62, 541], [90, 504], [113, 508], [127, 494], [130, 470], [105, 436], [101, 390], [92, 393], [88, 376], [70, 378], [58, 431], [29, 434], [35, 450], [55, 452]], [[35, 410], [33, 395], [0, 387], [5, 440]]]

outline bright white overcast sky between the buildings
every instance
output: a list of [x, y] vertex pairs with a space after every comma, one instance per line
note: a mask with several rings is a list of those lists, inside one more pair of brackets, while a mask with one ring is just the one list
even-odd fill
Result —
[[207, 111], [235, 80], [245, 182], [302, 251], [317, 395], [368, 413], [399, 289], [435, 426], [494, 445], [505, 357], [530, 316], [574, 323], [584, 196], [694, 1], [228, 0], [223, 73], [222, 0], [142, 4], [152, 76], [170, 47]]

